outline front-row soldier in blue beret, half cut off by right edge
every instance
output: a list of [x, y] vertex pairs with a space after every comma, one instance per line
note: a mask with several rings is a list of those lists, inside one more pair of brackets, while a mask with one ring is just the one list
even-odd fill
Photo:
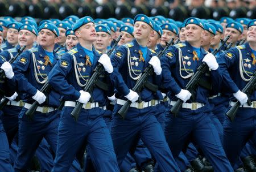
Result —
[[[226, 155], [234, 167], [240, 152], [249, 139], [255, 145], [255, 91], [248, 97], [247, 94], [241, 92], [246, 83], [250, 80], [251, 74], [256, 70], [256, 20], [251, 20], [247, 25], [247, 43], [245, 45], [236, 46], [225, 54], [220, 55], [220, 67], [223, 72], [223, 80], [225, 87], [229, 88], [229, 93], [233, 93], [230, 106], [234, 105], [234, 101], [238, 100], [241, 104], [237, 111], [236, 118], [233, 122], [228, 117], [224, 121], [224, 137], [223, 147]], [[247, 104], [250, 98], [251, 105]], [[236, 167], [234, 167], [236, 168]], [[250, 169], [255, 170], [255, 169]]]

